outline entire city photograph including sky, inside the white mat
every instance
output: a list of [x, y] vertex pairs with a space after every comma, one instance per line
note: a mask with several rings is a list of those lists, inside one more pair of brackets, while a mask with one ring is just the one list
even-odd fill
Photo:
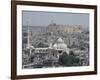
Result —
[[22, 69], [89, 66], [88, 14], [22, 15]]

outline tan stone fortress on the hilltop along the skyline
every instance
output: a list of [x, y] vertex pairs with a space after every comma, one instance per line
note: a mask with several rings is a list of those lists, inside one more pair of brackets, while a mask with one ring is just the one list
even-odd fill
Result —
[[83, 27], [81, 25], [61, 25], [56, 23], [51, 23], [47, 26], [46, 31], [64, 31], [64, 32], [83, 32]]

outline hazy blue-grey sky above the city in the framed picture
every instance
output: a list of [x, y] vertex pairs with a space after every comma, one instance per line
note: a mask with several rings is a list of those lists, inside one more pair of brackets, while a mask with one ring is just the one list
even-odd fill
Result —
[[22, 12], [23, 25], [47, 26], [53, 21], [56, 24], [82, 25], [89, 27], [89, 14], [64, 12]]

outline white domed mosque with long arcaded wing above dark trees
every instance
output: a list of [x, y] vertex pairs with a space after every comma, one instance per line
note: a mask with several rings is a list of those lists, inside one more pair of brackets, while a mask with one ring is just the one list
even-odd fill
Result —
[[27, 49], [28, 48], [30, 49], [30, 55], [49, 54], [50, 56], [53, 55], [53, 57], [55, 56], [56, 58], [59, 58], [59, 56], [64, 52], [66, 52], [66, 54], [69, 54], [69, 48], [67, 47], [67, 44], [64, 43], [64, 40], [62, 38], [58, 38], [54, 43], [50, 43], [49, 47], [34, 48], [33, 46], [29, 46], [27, 47]]

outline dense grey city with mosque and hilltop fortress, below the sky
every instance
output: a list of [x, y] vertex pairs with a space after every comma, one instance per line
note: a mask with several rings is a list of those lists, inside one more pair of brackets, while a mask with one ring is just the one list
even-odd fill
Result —
[[81, 25], [24, 26], [23, 68], [89, 65], [89, 31]]

